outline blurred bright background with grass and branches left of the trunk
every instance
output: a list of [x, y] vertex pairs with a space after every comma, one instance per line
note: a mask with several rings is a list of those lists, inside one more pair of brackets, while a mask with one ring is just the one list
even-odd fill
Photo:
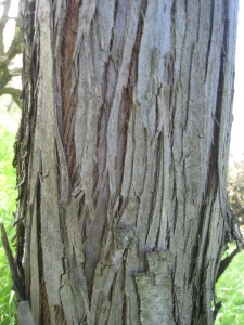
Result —
[[[12, 2], [12, 6], [11, 6]], [[22, 38], [16, 17], [18, 1], [0, 2], [0, 223], [9, 240], [16, 210], [15, 171], [12, 168], [13, 143], [20, 119]], [[15, 14], [14, 14], [15, 12]], [[12, 243], [13, 246], [13, 243]], [[12, 247], [13, 248], [13, 247]], [[0, 240], [0, 324], [14, 324], [14, 292], [5, 253]]]

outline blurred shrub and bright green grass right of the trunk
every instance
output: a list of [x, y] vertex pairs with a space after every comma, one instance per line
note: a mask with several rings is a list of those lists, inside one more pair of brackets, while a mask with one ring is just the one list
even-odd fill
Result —
[[[228, 172], [228, 198], [230, 207], [241, 223], [244, 223], [244, 160], [233, 162], [230, 160]], [[234, 244], [227, 251], [230, 253]], [[226, 256], [224, 256], [226, 257]], [[224, 258], [223, 257], [223, 258]], [[218, 301], [222, 307], [218, 313], [216, 325], [244, 324], [244, 277], [243, 277], [244, 251], [242, 250], [217, 283]]]

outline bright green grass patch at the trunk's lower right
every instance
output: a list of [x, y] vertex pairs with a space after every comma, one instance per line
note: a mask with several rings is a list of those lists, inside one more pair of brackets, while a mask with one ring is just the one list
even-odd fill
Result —
[[[233, 245], [230, 249], [233, 249]], [[230, 250], [229, 250], [230, 252]], [[215, 325], [243, 325], [244, 324], [244, 251], [242, 250], [217, 283], [218, 300], [222, 307], [218, 313]]]

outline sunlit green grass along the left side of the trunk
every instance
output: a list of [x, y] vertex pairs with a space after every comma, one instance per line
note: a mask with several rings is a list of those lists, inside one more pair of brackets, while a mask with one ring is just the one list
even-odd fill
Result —
[[[3, 223], [9, 239], [14, 235], [12, 227], [16, 210], [15, 170], [12, 167], [13, 143], [17, 129], [18, 115], [0, 107], [0, 223]], [[2, 242], [0, 240], [0, 324], [14, 324], [14, 292]]]

